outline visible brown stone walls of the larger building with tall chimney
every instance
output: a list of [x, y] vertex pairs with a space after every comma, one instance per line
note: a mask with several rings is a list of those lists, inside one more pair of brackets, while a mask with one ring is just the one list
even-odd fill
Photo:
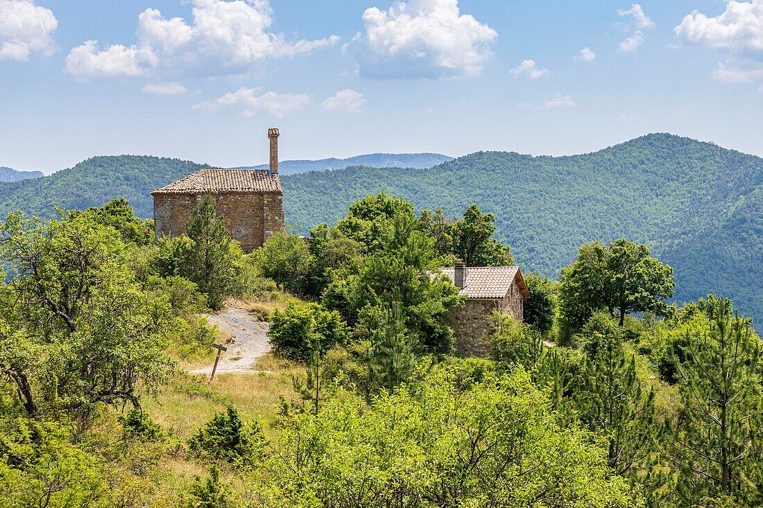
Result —
[[[153, 218], [158, 236], [185, 233], [188, 220], [203, 195], [156, 195]], [[278, 194], [230, 193], [214, 196], [217, 213], [241, 248], [249, 252], [262, 246], [275, 232], [284, 230], [282, 196]]]

